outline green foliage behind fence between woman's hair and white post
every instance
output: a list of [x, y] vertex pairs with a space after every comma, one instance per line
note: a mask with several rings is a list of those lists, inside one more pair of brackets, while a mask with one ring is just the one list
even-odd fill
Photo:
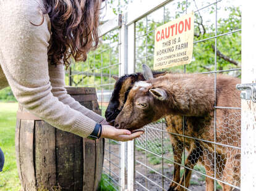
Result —
[[115, 80], [111, 76], [119, 75], [118, 41], [118, 30], [114, 30], [101, 38], [98, 49], [88, 54], [86, 62], [73, 62], [73, 85], [113, 89]]

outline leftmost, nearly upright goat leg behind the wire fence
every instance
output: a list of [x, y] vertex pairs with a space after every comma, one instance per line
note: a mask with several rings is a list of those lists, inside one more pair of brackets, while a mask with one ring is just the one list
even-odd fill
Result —
[[168, 191], [173, 191], [174, 188], [177, 186], [177, 183], [179, 183], [181, 179], [180, 170], [181, 170], [182, 153], [184, 150], [183, 143], [180, 140], [177, 140], [176, 137], [172, 136], [171, 142], [173, 146], [174, 173], [173, 173], [173, 182], [171, 182]]

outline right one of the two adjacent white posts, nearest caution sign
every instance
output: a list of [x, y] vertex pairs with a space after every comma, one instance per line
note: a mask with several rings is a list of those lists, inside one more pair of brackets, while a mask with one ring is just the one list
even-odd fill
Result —
[[[135, 72], [135, 23], [127, 26], [128, 29], [128, 73]], [[127, 191], [134, 191], [135, 163], [134, 163], [134, 140], [127, 145]]]

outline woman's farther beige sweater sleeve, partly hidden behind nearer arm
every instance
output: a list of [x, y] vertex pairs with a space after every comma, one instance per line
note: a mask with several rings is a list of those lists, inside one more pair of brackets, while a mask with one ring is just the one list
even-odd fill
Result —
[[64, 73], [64, 65], [49, 65], [49, 80], [51, 82], [51, 86], [53, 89], [51, 92], [54, 96], [58, 97], [59, 101], [64, 104], [69, 105], [70, 108], [77, 110], [83, 115], [88, 116], [92, 120], [96, 121], [97, 123], [103, 122], [105, 119], [98, 115], [97, 113], [93, 112], [92, 110], [88, 110], [88, 108], [83, 107], [79, 104], [79, 102], [75, 101], [65, 89], [65, 73]]

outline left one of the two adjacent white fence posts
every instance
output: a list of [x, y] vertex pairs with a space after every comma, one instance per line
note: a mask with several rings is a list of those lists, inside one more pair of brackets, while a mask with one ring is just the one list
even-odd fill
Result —
[[[127, 26], [126, 16], [122, 17], [122, 27], [119, 30], [119, 76], [127, 74]], [[127, 142], [121, 142], [120, 145], [120, 170], [119, 184], [121, 191], [126, 189], [126, 171], [127, 171]]]

